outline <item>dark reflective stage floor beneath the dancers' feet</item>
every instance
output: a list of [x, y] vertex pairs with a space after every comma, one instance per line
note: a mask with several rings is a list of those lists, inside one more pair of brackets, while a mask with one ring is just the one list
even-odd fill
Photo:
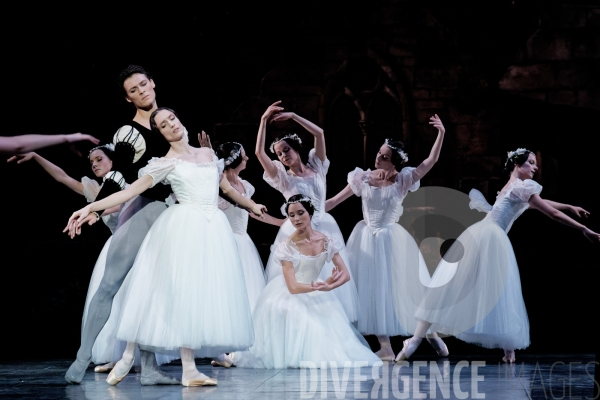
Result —
[[[517, 353], [517, 357], [519, 354]], [[63, 375], [70, 360], [0, 363], [0, 398], [31, 399], [591, 399], [593, 354], [521, 356], [507, 368], [497, 358], [452, 355], [415, 358], [406, 366], [360, 365], [325, 369], [215, 368], [198, 360], [216, 387], [141, 386], [133, 371], [117, 386], [90, 367], [80, 385]], [[484, 365], [485, 363], [485, 365]], [[162, 367], [181, 377], [180, 364]], [[375, 374], [375, 378], [373, 376]], [[408, 391], [406, 390], [408, 389]], [[434, 392], [433, 392], [434, 391]], [[483, 397], [485, 395], [485, 397]]]

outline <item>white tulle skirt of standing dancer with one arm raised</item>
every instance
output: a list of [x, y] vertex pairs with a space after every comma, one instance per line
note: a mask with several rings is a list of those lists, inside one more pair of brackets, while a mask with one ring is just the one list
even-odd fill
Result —
[[418, 276], [419, 267], [429, 273], [413, 237], [399, 224], [371, 230], [360, 221], [346, 249], [358, 290], [358, 331], [382, 336], [414, 333], [423, 286], [419, 282], [407, 285], [407, 275]]

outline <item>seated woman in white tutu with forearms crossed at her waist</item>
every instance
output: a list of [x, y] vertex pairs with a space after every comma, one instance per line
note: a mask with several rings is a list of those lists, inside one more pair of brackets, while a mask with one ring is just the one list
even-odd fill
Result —
[[[238, 367], [299, 368], [301, 362], [366, 361], [379, 358], [354, 329], [331, 290], [349, 284], [350, 273], [340, 256], [343, 243], [313, 229], [316, 215], [311, 199], [291, 196], [284, 205], [296, 229], [273, 246], [273, 257], [282, 269], [265, 287], [252, 313], [254, 345], [230, 354]], [[326, 281], [321, 269], [333, 263]], [[331, 264], [330, 264], [331, 265]]]

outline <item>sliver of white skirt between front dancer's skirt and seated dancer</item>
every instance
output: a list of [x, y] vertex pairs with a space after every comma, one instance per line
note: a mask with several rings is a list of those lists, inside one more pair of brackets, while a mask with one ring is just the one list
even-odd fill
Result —
[[260, 254], [258, 254], [258, 250], [250, 236], [245, 232], [234, 233], [234, 236], [242, 261], [242, 268], [244, 269], [250, 310], [254, 310], [258, 296], [260, 296], [266, 285], [265, 270]]

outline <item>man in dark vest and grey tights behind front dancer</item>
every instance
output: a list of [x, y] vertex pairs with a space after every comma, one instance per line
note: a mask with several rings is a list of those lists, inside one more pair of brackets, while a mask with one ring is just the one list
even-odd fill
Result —
[[[136, 113], [128, 125], [121, 127], [113, 138], [115, 155], [119, 172], [126, 182], [137, 179], [140, 168], [147, 165], [152, 157], [162, 157], [169, 150], [169, 143], [160, 135], [150, 130], [150, 115], [156, 110], [154, 81], [140, 66], [130, 65], [121, 71], [119, 86], [125, 91], [125, 100], [132, 103]], [[120, 186], [107, 179], [96, 200], [103, 199], [119, 191]], [[165, 199], [170, 194], [170, 186], [156, 185], [146, 190], [133, 200], [125, 212], [119, 215], [119, 224], [115, 231], [106, 257], [106, 269], [98, 291], [92, 298], [87, 319], [81, 333], [81, 346], [77, 359], [69, 367], [65, 379], [69, 383], [80, 383], [91, 362], [92, 347], [96, 337], [106, 324], [112, 308], [112, 301], [121, 287], [125, 276], [133, 266], [137, 250], [146, 233], [167, 208]], [[93, 219], [99, 219], [97, 213]], [[91, 223], [94, 220], [88, 220]], [[168, 385], [180, 382], [172, 376], [164, 374], [156, 363], [153, 352], [140, 348], [141, 384]], [[118, 373], [124, 376], [128, 371]]]

